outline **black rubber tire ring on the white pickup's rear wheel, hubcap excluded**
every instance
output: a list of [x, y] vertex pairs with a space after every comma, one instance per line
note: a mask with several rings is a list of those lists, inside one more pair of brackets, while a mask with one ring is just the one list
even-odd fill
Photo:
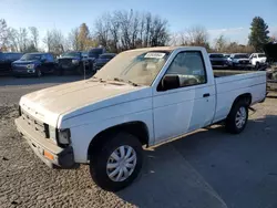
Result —
[[[236, 124], [236, 117], [238, 116], [238, 112], [240, 111], [240, 108], [244, 108], [246, 113], [245, 122], [243, 123], [242, 126]], [[244, 131], [245, 126], [247, 125], [247, 121], [248, 121], [248, 103], [246, 102], [246, 100], [242, 98], [233, 105], [229, 115], [225, 121], [225, 127], [232, 134], [239, 134]]]

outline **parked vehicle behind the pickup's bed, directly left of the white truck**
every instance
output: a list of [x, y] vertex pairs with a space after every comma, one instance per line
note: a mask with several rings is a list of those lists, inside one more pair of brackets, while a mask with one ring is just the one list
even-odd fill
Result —
[[228, 63], [235, 69], [252, 69], [247, 53], [233, 53], [228, 58]]

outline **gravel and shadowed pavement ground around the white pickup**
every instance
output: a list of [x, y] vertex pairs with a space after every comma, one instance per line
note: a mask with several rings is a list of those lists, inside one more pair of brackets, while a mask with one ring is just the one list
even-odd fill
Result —
[[220, 126], [145, 150], [140, 178], [123, 191], [98, 188], [88, 166], [52, 170], [16, 131], [19, 97], [79, 80], [0, 77], [0, 207], [277, 207], [277, 100], [255, 106], [247, 128]]

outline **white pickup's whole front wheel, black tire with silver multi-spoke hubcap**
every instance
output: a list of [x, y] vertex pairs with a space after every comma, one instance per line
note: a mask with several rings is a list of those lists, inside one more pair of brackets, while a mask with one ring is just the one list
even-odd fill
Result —
[[125, 132], [102, 139], [106, 142], [90, 154], [91, 176], [101, 188], [117, 191], [137, 177], [143, 163], [142, 144]]

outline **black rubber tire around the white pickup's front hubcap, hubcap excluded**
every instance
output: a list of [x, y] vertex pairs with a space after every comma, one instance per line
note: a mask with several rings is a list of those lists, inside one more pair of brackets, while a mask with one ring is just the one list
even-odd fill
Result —
[[[91, 177], [95, 181], [95, 184], [104, 190], [121, 190], [126, 186], [131, 185], [140, 174], [143, 164], [142, 144], [135, 136], [125, 132], [109, 134], [103, 136], [103, 138], [101, 139], [105, 139], [105, 143], [99, 145], [90, 153]], [[136, 165], [132, 174], [126, 179], [124, 179], [123, 181], [114, 181], [107, 175], [106, 164], [111, 154], [123, 145], [131, 146], [134, 149], [136, 154]]]

